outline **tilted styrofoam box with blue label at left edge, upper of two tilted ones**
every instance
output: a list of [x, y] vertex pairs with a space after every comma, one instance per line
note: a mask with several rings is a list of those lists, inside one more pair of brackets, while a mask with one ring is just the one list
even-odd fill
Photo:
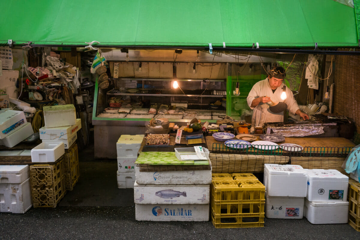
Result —
[[27, 123], [23, 111], [6, 110], [0, 113], [0, 139], [9, 136], [10, 133]]

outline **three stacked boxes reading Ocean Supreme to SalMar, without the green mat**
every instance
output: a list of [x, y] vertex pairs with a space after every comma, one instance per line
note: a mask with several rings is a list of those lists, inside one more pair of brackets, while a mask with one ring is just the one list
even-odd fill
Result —
[[135, 169], [137, 221], [209, 220], [211, 167], [208, 170], [161, 172]]

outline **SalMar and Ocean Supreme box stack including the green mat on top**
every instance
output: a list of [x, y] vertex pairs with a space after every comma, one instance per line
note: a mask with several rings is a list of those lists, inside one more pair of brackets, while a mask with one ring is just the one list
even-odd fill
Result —
[[[174, 152], [141, 152], [135, 162], [136, 220], [208, 221], [211, 164], [208, 160], [195, 162], [204, 165], [179, 161]], [[154, 171], [142, 168], [147, 163]]]

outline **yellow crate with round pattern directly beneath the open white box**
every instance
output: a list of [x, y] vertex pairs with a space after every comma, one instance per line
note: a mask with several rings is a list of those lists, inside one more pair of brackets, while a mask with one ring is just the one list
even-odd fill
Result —
[[54, 187], [64, 177], [64, 159], [60, 157], [53, 164], [36, 164], [30, 166], [31, 188], [40, 186]]

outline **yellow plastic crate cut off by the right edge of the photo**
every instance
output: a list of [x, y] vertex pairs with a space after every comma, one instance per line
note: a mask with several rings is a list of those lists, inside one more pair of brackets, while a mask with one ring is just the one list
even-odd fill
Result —
[[360, 231], [360, 183], [349, 183], [349, 221], [350, 226]]

